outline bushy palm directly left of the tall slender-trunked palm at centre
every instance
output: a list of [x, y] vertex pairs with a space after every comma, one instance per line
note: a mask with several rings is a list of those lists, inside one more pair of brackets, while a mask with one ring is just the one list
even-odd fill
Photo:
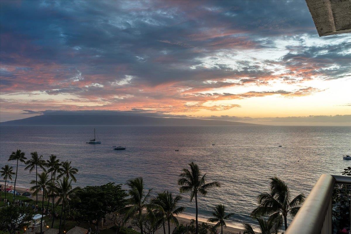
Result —
[[[170, 192], [158, 193], [157, 198], [152, 200], [152, 203], [157, 205], [157, 212], [167, 220], [168, 223], [168, 234], [171, 234], [170, 222], [172, 221], [177, 226], [179, 225], [178, 219], [174, 215], [179, 215], [184, 211], [184, 207], [177, 207], [177, 203], [181, 200], [181, 196], [177, 195], [173, 197]], [[163, 228], [165, 233], [165, 222], [163, 222]]]

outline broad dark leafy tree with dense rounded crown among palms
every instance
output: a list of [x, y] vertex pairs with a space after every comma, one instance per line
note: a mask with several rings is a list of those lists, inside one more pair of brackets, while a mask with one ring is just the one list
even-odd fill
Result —
[[81, 215], [84, 221], [93, 222], [99, 233], [100, 220], [106, 217], [106, 214], [115, 212], [124, 208], [127, 204], [126, 192], [121, 185], [107, 183], [101, 186], [86, 186], [76, 190], [74, 196], [78, 201], [71, 201], [71, 208]]

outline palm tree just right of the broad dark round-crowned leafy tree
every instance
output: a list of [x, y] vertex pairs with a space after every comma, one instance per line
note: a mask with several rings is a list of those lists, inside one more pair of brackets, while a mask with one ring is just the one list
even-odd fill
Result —
[[144, 208], [151, 207], [147, 202], [150, 199], [152, 189], [149, 189], [145, 194], [143, 178], [141, 177], [128, 180], [126, 185], [129, 187], [128, 195], [130, 198], [128, 199], [129, 206], [126, 207], [127, 212], [125, 220], [128, 220], [138, 213], [140, 233], [143, 234], [143, 222], [141, 215]]

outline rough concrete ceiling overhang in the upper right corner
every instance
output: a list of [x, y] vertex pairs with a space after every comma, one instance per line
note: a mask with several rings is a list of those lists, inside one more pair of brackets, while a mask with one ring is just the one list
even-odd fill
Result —
[[319, 36], [351, 32], [351, 0], [306, 0]]

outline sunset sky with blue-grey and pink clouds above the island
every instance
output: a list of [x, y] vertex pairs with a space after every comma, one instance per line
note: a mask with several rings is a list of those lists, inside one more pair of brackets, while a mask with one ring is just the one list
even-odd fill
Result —
[[1, 1], [0, 17], [0, 121], [351, 125], [351, 34], [319, 37], [305, 1]]

